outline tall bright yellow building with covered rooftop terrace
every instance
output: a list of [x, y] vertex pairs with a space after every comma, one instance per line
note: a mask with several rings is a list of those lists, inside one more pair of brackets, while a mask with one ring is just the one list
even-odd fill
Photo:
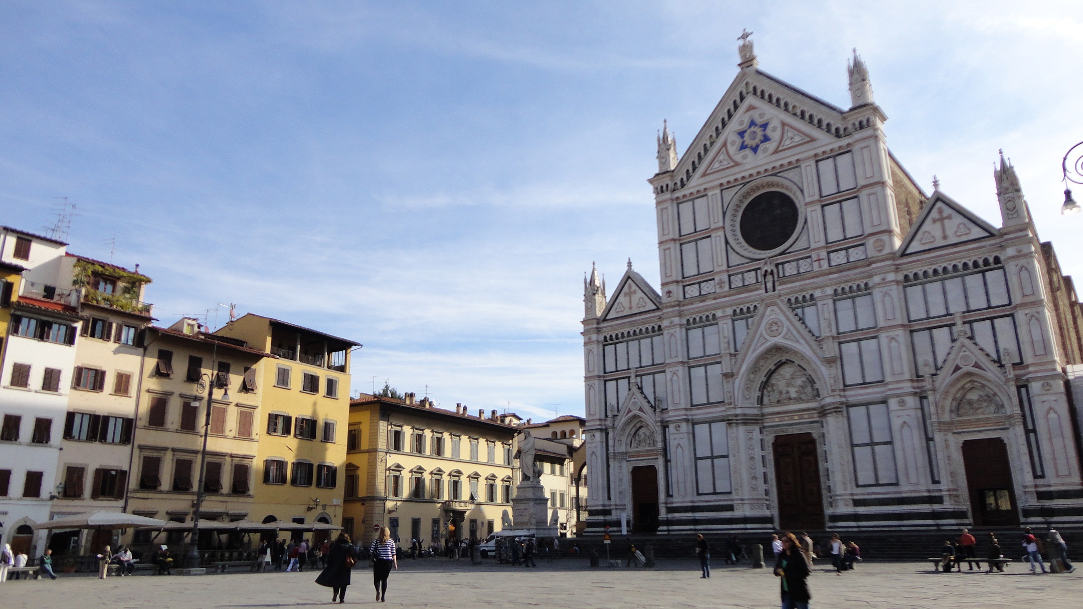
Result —
[[339, 427], [350, 416], [350, 351], [360, 344], [251, 313], [214, 334], [275, 355], [256, 364], [262, 432], [251, 519], [341, 523]]

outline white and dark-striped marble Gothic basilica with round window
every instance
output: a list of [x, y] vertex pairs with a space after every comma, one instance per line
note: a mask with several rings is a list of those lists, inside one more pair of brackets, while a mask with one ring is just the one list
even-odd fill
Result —
[[658, 289], [584, 282], [587, 533], [1083, 522], [1083, 320], [1015, 169], [997, 226], [900, 165], [857, 54], [844, 109], [740, 53], [657, 139]]

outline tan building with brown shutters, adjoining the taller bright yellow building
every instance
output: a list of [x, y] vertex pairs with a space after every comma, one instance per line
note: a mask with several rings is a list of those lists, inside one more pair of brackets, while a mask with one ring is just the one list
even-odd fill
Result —
[[[257, 454], [263, 436], [258, 411], [264, 389], [257, 371], [260, 362], [275, 359], [243, 340], [206, 334], [191, 318], [168, 328], [147, 328], [142, 347], [145, 355], [138, 385], [133, 384], [140, 399], [127, 511], [178, 522], [192, 520], [209, 405], [200, 518], [256, 517], [251, 513], [253, 481], [259, 476]], [[208, 404], [208, 381], [213, 378], [218, 380]], [[182, 536], [173, 533], [168, 542], [180, 543]], [[211, 536], [205, 531], [200, 546], [207, 547]], [[149, 541], [148, 534], [136, 534], [134, 543]]]

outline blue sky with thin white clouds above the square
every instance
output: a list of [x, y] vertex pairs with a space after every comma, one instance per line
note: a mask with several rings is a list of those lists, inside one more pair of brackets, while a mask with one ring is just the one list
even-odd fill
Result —
[[582, 415], [584, 273], [657, 286], [655, 135], [683, 152], [744, 28], [844, 107], [857, 48], [893, 154], [995, 225], [1003, 148], [1083, 276], [1078, 1], [6, 0], [0, 223], [67, 197], [69, 251], [139, 263], [158, 323], [354, 339], [354, 392]]

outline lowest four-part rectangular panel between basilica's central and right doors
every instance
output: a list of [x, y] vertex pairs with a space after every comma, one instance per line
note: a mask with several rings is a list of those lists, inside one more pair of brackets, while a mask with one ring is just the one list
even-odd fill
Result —
[[848, 406], [847, 410], [858, 485], [898, 484], [887, 404]]

